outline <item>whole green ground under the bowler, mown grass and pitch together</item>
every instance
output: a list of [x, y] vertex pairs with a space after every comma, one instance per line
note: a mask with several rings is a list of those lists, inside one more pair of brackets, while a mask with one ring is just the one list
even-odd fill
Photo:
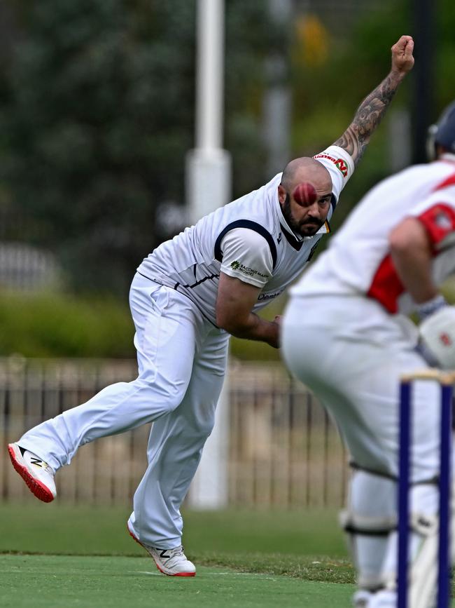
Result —
[[195, 578], [164, 576], [119, 508], [0, 505], [0, 606], [348, 608], [353, 569], [335, 511], [186, 512]]

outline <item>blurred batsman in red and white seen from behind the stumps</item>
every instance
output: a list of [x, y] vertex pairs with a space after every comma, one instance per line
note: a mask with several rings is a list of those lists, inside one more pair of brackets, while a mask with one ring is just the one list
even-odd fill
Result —
[[[436, 160], [360, 201], [291, 290], [282, 323], [286, 364], [335, 418], [351, 454], [342, 525], [358, 570], [358, 608], [396, 607], [400, 376], [455, 368], [455, 306], [438, 291], [455, 272], [455, 103], [431, 133]], [[439, 386], [416, 381], [413, 394], [409, 605], [433, 608]]]

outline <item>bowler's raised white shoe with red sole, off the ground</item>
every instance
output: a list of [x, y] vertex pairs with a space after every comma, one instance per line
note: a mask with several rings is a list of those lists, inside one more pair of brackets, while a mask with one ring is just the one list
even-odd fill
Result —
[[53, 469], [36, 454], [25, 450], [17, 443], [10, 443], [8, 452], [13, 467], [36, 498], [43, 502], [50, 502], [55, 499], [57, 490], [55, 489]]

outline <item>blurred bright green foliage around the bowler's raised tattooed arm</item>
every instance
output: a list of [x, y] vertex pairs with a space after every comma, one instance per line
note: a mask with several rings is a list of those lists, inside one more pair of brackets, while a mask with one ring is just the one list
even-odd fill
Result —
[[[335, 29], [332, 22], [329, 27], [328, 20], [325, 21], [319, 13], [321, 24], [327, 30], [323, 36], [327, 60], [320, 62], [309, 61], [304, 53], [308, 41], [302, 36], [309, 36], [309, 26], [314, 18], [303, 15], [302, 20], [296, 20], [292, 53], [295, 155], [314, 154], [314, 151], [330, 144], [342, 133], [362, 97], [387, 74], [390, 67], [388, 49], [399, 36], [414, 36], [414, 55], [416, 62], [419, 62], [425, 49], [415, 31], [415, 1], [384, 0], [374, 10], [365, 12], [349, 32], [339, 27]], [[453, 0], [439, 0], [435, 15], [437, 48], [433, 56], [436, 116], [430, 116], [430, 121], [455, 97], [455, 50], [451, 34], [455, 27]], [[374, 134], [355, 177], [343, 192], [343, 204], [334, 217], [334, 228], [365, 191], [390, 173], [391, 115], [400, 108], [411, 112], [415, 74], [416, 71], [410, 74], [400, 88], [391, 111]]]

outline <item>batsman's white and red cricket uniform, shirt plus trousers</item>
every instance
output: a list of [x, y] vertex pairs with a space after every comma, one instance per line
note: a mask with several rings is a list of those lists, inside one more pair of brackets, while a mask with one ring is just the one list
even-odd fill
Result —
[[[388, 247], [388, 234], [409, 215], [420, 219], [433, 242], [433, 276], [439, 285], [455, 271], [454, 156], [408, 168], [373, 188], [290, 290], [283, 320], [288, 365], [316, 385], [341, 424], [356, 464], [392, 474], [398, 378], [428, 367], [414, 350], [417, 332], [406, 316], [414, 304]], [[314, 337], [309, 339], [311, 359], [297, 356], [304, 335]], [[435, 396], [435, 387], [425, 386], [417, 392]], [[422, 435], [420, 477], [431, 475], [435, 466], [428, 454], [437, 421], [434, 408], [428, 410], [421, 412], [428, 424], [420, 414], [414, 417], [417, 445]]]

